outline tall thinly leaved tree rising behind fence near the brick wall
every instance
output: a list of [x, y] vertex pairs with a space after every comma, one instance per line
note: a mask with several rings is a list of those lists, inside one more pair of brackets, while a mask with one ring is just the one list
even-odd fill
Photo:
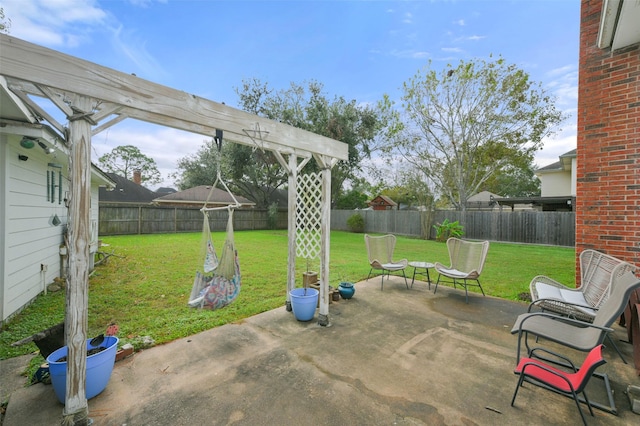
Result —
[[[431, 65], [404, 83], [402, 110], [390, 112], [394, 143], [384, 150], [464, 210], [492, 176], [527, 168], [564, 117], [540, 84], [502, 58], [460, 61], [439, 73]], [[382, 108], [394, 108], [385, 101]]]

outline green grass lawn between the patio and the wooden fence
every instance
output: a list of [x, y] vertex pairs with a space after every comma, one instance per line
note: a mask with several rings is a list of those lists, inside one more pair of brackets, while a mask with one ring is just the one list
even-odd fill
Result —
[[[220, 245], [223, 238], [223, 233], [215, 233], [214, 243]], [[141, 336], [151, 336], [162, 344], [282, 306], [286, 231], [236, 232], [235, 239], [242, 271], [240, 296], [226, 308], [209, 311], [187, 306], [195, 271], [203, 260], [200, 233], [104, 237], [108, 246], [102, 250], [114, 256], [98, 266], [89, 281], [89, 335], [116, 322], [122, 343], [135, 344]], [[398, 237], [395, 257], [448, 263], [445, 244], [403, 237]], [[297, 269], [301, 285], [306, 261], [299, 260]], [[318, 270], [317, 262], [310, 269]], [[520, 293], [528, 293], [535, 275], [572, 285], [574, 271], [572, 248], [492, 243], [481, 282], [488, 295], [518, 300]], [[330, 284], [358, 282], [368, 273], [363, 235], [332, 232]], [[36, 351], [33, 343], [20, 347], [11, 343], [62, 322], [64, 298], [64, 291], [41, 295], [6, 324], [0, 333], [0, 359]]]

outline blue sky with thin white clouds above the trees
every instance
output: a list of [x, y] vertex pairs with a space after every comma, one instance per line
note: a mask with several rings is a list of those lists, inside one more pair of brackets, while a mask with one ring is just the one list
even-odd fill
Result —
[[[579, 0], [0, 0], [9, 35], [237, 107], [257, 78], [274, 90], [318, 81], [373, 104], [429, 62], [501, 56], [556, 97], [568, 119], [544, 140], [544, 167], [576, 147]], [[1, 66], [1, 64], [0, 64]], [[207, 138], [132, 119], [92, 138], [93, 160], [121, 145], [153, 158], [163, 182]], [[215, 177], [212, 177], [212, 183]]]

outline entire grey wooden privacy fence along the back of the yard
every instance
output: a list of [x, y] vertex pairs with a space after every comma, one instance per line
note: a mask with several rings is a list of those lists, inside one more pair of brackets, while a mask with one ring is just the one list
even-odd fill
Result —
[[[435, 238], [434, 224], [445, 219], [459, 221], [464, 238], [527, 244], [575, 245], [575, 214], [573, 212], [514, 212], [450, 210], [418, 212], [405, 210], [332, 210], [331, 229], [349, 231], [347, 219], [359, 213], [364, 217], [364, 232], [396, 234], [417, 238]], [[224, 231], [227, 211], [209, 213], [212, 231]], [[234, 229], [257, 230], [271, 228], [266, 210], [238, 209], [234, 213]], [[287, 212], [278, 212], [277, 229], [287, 228]], [[202, 213], [198, 208], [159, 206], [100, 206], [99, 234], [158, 234], [200, 232]]]

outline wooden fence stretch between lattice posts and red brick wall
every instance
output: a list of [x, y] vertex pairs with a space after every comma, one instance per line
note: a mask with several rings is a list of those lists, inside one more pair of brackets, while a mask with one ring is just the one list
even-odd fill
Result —
[[[520, 210], [435, 212], [398, 210], [333, 210], [331, 229], [349, 230], [347, 219], [359, 213], [364, 217], [364, 232], [397, 234], [435, 239], [434, 224], [445, 219], [464, 227], [464, 238], [527, 244], [575, 245], [575, 213]], [[422, 215], [422, 218], [421, 218]]]

